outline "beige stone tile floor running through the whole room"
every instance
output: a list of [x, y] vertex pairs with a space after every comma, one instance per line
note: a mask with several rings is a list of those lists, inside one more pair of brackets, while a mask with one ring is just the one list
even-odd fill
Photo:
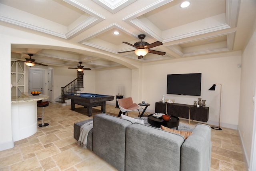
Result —
[[[106, 113], [117, 116], [118, 112], [114, 105], [106, 105]], [[14, 148], [0, 151], [0, 171], [116, 171], [92, 151], [79, 147], [73, 138], [74, 123], [92, 118], [86, 113], [80, 105], [72, 111], [70, 105], [50, 103], [44, 109], [44, 122], [50, 125], [38, 127], [34, 135], [14, 142]], [[93, 115], [98, 113], [100, 107], [94, 107]], [[38, 108], [38, 117], [41, 114]], [[131, 111], [128, 116], [138, 117], [138, 111]], [[180, 122], [188, 124], [184, 119]], [[190, 126], [194, 125], [196, 122], [191, 121]], [[237, 130], [212, 129], [211, 139], [210, 171], [246, 171]]]

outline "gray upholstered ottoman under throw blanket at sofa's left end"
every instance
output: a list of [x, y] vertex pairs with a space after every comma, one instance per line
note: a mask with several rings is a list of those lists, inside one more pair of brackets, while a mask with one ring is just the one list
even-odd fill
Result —
[[[92, 121], [92, 119], [74, 123], [74, 139], [76, 139], [76, 141], [78, 141], [79, 139], [81, 126], [90, 121]], [[92, 129], [89, 131], [89, 134], [87, 137], [87, 148], [92, 150]]]

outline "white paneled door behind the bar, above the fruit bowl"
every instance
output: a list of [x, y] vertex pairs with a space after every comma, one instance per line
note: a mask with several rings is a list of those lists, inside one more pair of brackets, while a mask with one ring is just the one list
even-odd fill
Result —
[[44, 70], [29, 70], [29, 92], [40, 91], [44, 94]]

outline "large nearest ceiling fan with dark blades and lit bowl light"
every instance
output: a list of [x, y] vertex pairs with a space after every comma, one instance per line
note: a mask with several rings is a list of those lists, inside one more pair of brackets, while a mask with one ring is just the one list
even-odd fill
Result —
[[[128, 42], [123, 42], [125, 44], [128, 44], [134, 48], [136, 48], [136, 50], [130, 50], [130, 51], [125, 51], [125, 52], [135, 52], [136, 55], [138, 55], [138, 59], [143, 58], [143, 56], [145, 56], [148, 52], [152, 53], [152, 54], [157, 54], [157, 55], [165, 55], [165, 52], [160, 52], [160, 51], [156, 51], [156, 50], [150, 50], [150, 48], [154, 48], [156, 46], [160, 46], [163, 43], [162, 42], [154, 42], [152, 44], [149, 44], [148, 42], [142, 42], [142, 40], [146, 37], [145, 34], [140, 34], [138, 36], [138, 38], [141, 40], [140, 42], [136, 42], [134, 45], [130, 44]], [[117, 52], [118, 54], [120, 53], [125, 53], [125, 52]]]

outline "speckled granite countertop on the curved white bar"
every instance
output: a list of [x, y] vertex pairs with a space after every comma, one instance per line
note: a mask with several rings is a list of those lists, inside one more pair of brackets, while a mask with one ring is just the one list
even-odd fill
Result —
[[48, 99], [48, 95], [40, 94], [40, 95], [32, 95], [28, 92], [22, 93], [20, 96], [12, 96], [12, 103], [23, 103], [30, 101], [38, 101]]

